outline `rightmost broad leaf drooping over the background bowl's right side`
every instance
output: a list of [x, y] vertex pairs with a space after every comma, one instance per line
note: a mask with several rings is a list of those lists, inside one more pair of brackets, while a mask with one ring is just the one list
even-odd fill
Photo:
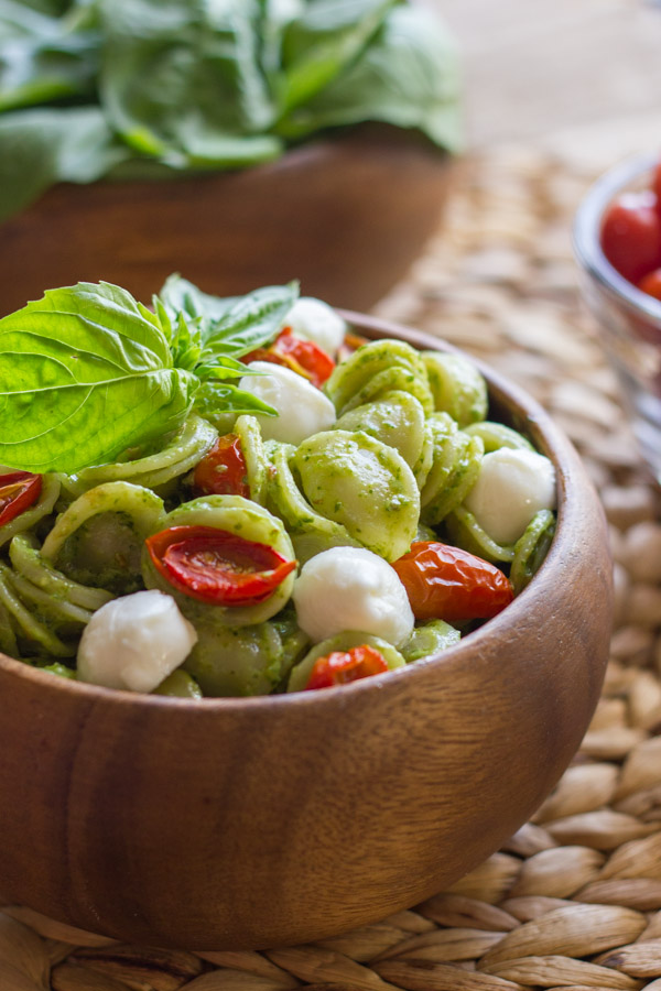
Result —
[[362, 57], [279, 124], [301, 139], [323, 128], [379, 120], [462, 146], [456, 45], [427, 10], [395, 7]]

